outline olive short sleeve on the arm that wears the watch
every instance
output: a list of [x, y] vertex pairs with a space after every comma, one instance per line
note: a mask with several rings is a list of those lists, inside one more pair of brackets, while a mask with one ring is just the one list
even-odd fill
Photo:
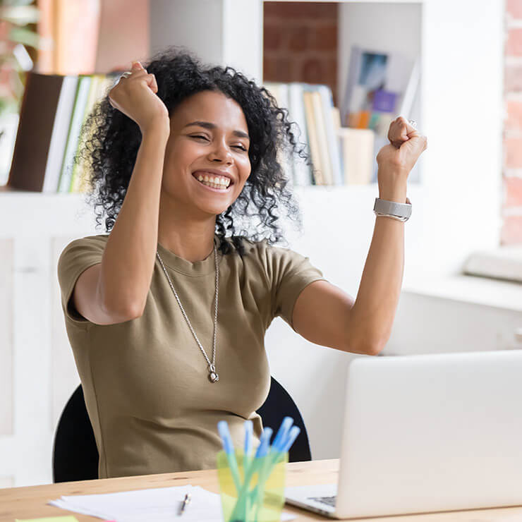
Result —
[[265, 270], [272, 286], [274, 317], [282, 317], [293, 329], [293, 305], [299, 294], [314, 281], [326, 281], [308, 257], [289, 250], [263, 245]]

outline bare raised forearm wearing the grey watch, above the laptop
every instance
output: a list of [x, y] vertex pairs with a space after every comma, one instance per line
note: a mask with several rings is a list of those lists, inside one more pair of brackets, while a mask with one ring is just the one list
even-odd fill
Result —
[[[380, 188], [380, 198], [406, 201], [406, 183], [400, 188]], [[404, 223], [377, 217], [363, 277], [353, 304], [351, 322], [368, 353], [378, 353], [391, 334], [401, 293], [404, 270]]]

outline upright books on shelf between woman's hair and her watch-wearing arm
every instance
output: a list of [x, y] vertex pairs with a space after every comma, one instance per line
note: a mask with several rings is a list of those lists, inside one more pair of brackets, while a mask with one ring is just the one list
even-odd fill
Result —
[[374, 134], [370, 130], [341, 127], [327, 85], [265, 82], [279, 107], [289, 111], [298, 142], [312, 159], [310, 168], [298, 157], [279, 157], [288, 176], [298, 186], [370, 183], [373, 172]]

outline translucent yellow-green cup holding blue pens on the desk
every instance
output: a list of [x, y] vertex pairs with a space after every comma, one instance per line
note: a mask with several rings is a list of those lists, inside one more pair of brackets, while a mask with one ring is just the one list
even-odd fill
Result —
[[280, 521], [289, 454], [269, 454], [261, 459], [245, 459], [242, 451], [235, 455], [237, 473], [233, 473], [224, 451], [217, 454], [224, 522]]

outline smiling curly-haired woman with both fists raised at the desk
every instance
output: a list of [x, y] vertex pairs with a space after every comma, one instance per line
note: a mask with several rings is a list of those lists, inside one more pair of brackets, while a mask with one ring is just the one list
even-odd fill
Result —
[[[355, 301], [272, 246], [281, 210], [296, 212], [277, 153], [303, 155], [286, 116], [241, 73], [174, 50], [133, 63], [91, 116], [83, 155], [109, 233], [70, 243], [59, 281], [100, 478], [213, 468], [222, 419], [236, 444], [247, 418], [259, 437], [263, 340], [277, 315], [343, 351], [376, 354], [387, 341], [403, 223], [377, 217]], [[426, 140], [403, 119], [389, 138], [380, 197], [405, 202]]]

